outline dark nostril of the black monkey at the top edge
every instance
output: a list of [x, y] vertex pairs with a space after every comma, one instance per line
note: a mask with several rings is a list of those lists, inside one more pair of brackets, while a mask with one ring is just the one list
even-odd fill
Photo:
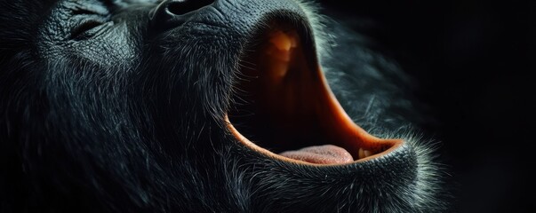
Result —
[[177, 27], [188, 17], [214, 0], [165, 0], [149, 13], [151, 22], [159, 28]]

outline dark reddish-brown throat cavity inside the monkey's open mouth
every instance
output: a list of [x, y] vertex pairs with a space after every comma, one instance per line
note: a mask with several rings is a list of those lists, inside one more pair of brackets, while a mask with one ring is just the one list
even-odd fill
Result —
[[230, 122], [246, 138], [275, 153], [340, 153], [318, 148], [336, 144], [337, 139], [328, 132], [331, 124], [324, 119], [329, 110], [323, 106], [326, 100], [318, 96], [324, 92], [318, 86], [322, 81], [308, 64], [297, 37], [295, 32], [276, 31], [268, 43], [255, 48], [261, 51], [247, 59], [253, 67], [243, 69], [246, 79], [239, 84], [244, 102], [230, 113]]

